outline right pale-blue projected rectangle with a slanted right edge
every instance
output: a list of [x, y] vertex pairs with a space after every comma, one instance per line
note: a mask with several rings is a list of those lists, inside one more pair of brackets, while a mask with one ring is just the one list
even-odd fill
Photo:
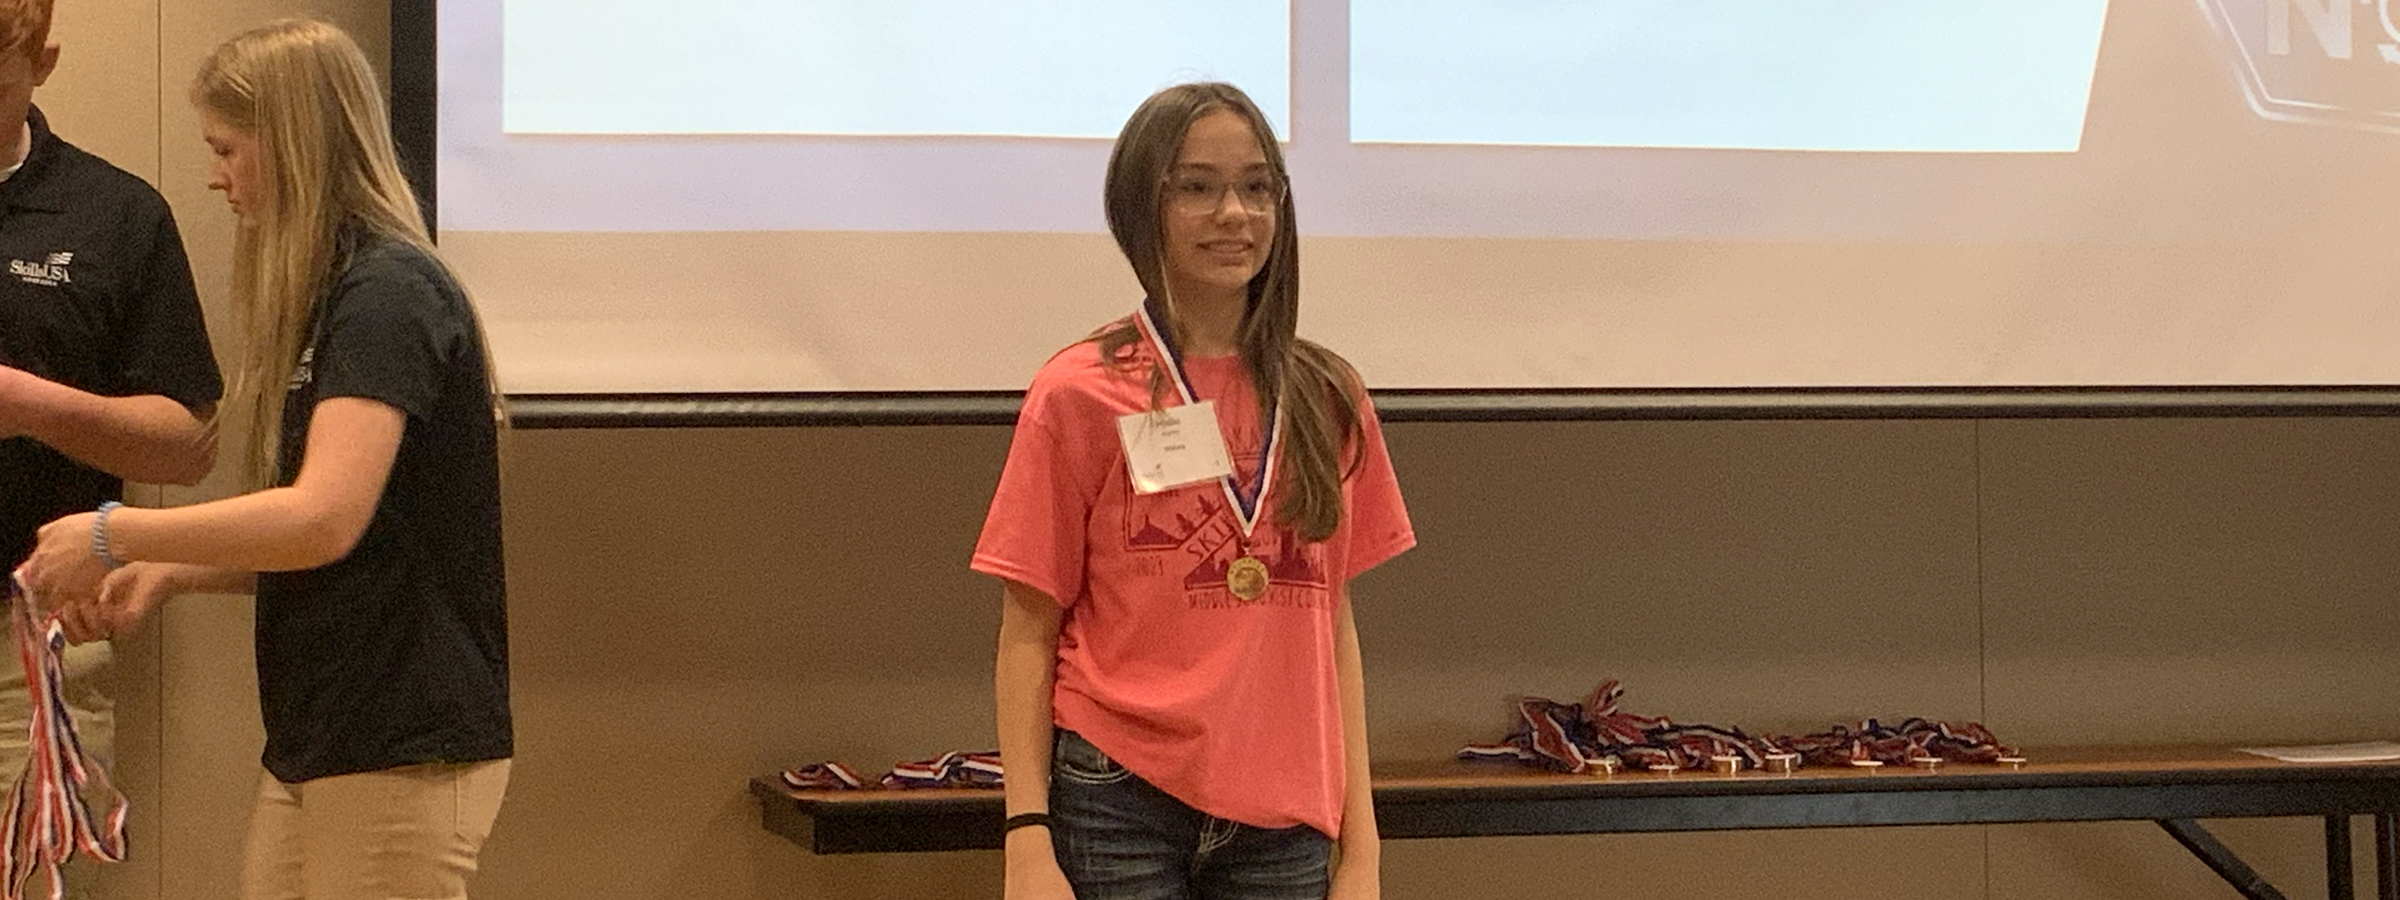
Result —
[[2107, 0], [1351, 0], [1351, 139], [2074, 151]]

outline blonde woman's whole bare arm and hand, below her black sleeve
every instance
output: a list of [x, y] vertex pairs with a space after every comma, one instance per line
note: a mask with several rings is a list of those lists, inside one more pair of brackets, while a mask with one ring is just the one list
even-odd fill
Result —
[[[290, 487], [175, 509], [118, 509], [108, 516], [108, 552], [118, 562], [238, 571], [317, 569], [348, 557], [374, 518], [406, 425], [408, 415], [382, 401], [324, 398]], [[94, 514], [43, 526], [19, 571], [34, 590], [96, 590], [108, 566], [94, 547]]]

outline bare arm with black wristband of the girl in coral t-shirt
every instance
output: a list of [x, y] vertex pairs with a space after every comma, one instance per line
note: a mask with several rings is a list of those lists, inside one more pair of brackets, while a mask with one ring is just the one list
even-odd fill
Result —
[[[1058, 672], [1058, 600], [1008, 581], [991, 696], [998, 703], [1008, 816], [1049, 811], [1051, 679]], [[1006, 900], [1073, 900], [1049, 826], [1008, 833]]]

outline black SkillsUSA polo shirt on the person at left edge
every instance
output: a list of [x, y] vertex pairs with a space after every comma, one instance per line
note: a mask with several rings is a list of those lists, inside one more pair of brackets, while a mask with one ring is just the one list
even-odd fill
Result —
[[[0, 182], [0, 365], [101, 396], [223, 391], [192, 266], [149, 182], [50, 134], [34, 110], [24, 168]], [[0, 557], [34, 530], [118, 499], [125, 485], [31, 437], [0, 439]]]

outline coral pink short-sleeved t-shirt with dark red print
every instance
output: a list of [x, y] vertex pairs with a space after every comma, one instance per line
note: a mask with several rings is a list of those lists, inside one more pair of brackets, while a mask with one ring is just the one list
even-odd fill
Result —
[[[1416, 545], [1361, 396], [1363, 458], [1342, 485], [1342, 528], [1303, 542], [1274, 521], [1270, 485], [1248, 552], [1272, 586], [1226, 588], [1241, 523], [1217, 482], [1135, 494], [1116, 418], [1150, 403], [1154, 350], [1104, 365], [1097, 343], [1034, 374], [972, 566], [1066, 607], [1051, 720], [1193, 809], [1260, 828], [1342, 833], [1344, 742], [1334, 590]], [[1241, 358], [1186, 358], [1246, 487], [1265, 434]], [[1178, 398], [1169, 386], [1164, 406]], [[1344, 461], [1349, 456], [1344, 454]], [[1282, 466], [1277, 466], [1282, 468]]]

